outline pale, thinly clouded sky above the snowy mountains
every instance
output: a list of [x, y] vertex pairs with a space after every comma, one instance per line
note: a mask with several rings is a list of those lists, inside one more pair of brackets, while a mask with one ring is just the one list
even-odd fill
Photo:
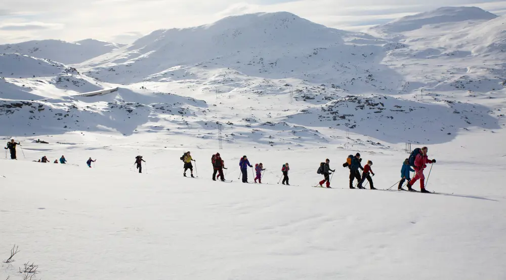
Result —
[[287, 11], [329, 27], [362, 30], [442, 6], [506, 14], [506, 1], [480, 0], [2, 0], [0, 44], [95, 38], [130, 43], [153, 30], [196, 26], [225, 16]]

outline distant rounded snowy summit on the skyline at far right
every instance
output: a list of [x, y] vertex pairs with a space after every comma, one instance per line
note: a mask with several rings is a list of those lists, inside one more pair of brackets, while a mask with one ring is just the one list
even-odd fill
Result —
[[369, 31], [376, 34], [395, 34], [417, 30], [426, 25], [462, 21], [486, 21], [495, 18], [497, 18], [496, 15], [477, 7], [443, 7], [434, 11], [402, 17], [392, 22], [372, 27]]

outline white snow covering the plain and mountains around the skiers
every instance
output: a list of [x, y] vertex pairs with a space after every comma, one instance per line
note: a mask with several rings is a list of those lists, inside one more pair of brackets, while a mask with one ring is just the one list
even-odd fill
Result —
[[[22, 251], [0, 279], [26, 261], [37, 280], [506, 278], [503, 24], [442, 8], [366, 34], [260, 13], [86, 59], [62, 42], [57, 62], [0, 55], [0, 137], [23, 145], [0, 161], [0, 259]], [[405, 143], [430, 147], [428, 189], [444, 194], [347, 189], [348, 154], [383, 189]], [[185, 150], [199, 179], [182, 178]], [[210, 180], [217, 151], [234, 182]], [[243, 154], [270, 184], [237, 182]], [[311, 188], [325, 158], [337, 189]], [[286, 162], [290, 187], [276, 181]]]

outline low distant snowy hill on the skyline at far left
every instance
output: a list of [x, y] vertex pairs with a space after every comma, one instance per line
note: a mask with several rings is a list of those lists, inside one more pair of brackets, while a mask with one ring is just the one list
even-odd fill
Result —
[[0, 45], [0, 53], [19, 53], [63, 64], [79, 63], [118, 49], [123, 45], [86, 39], [74, 43], [59, 40], [28, 41]]

